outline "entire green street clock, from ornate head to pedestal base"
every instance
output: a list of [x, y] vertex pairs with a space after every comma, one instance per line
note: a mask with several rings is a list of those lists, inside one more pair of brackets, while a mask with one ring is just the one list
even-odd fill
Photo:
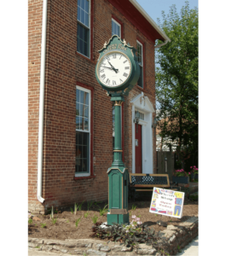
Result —
[[107, 224], [129, 223], [128, 183], [129, 172], [122, 160], [121, 146], [121, 105], [140, 75], [136, 49], [126, 44], [116, 35], [99, 50], [96, 64], [96, 79], [114, 102], [114, 148], [113, 164], [107, 170], [108, 175], [108, 212]]

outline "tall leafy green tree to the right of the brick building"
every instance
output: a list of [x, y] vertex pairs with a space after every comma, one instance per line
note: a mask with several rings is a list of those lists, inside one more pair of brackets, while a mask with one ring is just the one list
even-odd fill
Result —
[[180, 15], [174, 4], [162, 18], [158, 25], [171, 42], [156, 49], [157, 119], [165, 120], [158, 122], [160, 136], [178, 140], [179, 152], [184, 147], [194, 152], [198, 150], [198, 9], [189, 9], [186, 1]]

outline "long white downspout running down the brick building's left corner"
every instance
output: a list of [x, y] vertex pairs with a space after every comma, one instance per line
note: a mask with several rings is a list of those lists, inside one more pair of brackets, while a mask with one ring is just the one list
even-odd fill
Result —
[[43, 26], [41, 44], [41, 71], [40, 71], [40, 94], [39, 94], [39, 122], [38, 122], [38, 182], [37, 198], [43, 203], [42, 181], [43, 181], [43, 108], [44, 108], [44, 78], [45, 78], [45, 49], [46, 49], [46, 27], [47, 27], [47, 1], [43, 0]]

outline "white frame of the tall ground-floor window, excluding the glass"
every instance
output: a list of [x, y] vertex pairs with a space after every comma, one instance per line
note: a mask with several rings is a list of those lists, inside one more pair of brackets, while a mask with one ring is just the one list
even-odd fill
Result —
[[[84, 130], [80, 130], [80, 129], [76, 129], [76, 131], [82, 131], [82, 132], [86, 132], [86, 133], [90, 133], [90, 120], [91, 120], [91, 117], [90, 117], [90, 109], [91, 109], [91, 90], [89, 89], [86, 89], [84, 87], [81, 87], [79, 85], [76, 85], [76, 89], [78, 90], [83, 90], [85, 92], [88, 92], [89, 93], [89, 131], [84, 131]], [[90, 135], [90, 143], [91, 143], [91, 135]], [[91, 145], [89, 145], [89, 147], [91, 148]], [[77, 173], [75, 171], [75, 177], [86, 177], [86, 176], [90, 176], [90, 148], [89, 148], [89, 172], [87, 173]], [[76, 159], [76, 156], [75, 156], [75, 159]], [[75, 165], [75, 168], [76, 168], [76, 165]]]

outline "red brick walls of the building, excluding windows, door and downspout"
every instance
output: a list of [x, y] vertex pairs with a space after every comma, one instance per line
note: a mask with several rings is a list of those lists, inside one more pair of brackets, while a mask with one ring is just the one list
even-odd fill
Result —
[[[50, 1], [48, 5], [46, 80], [43, 129], [43, 207], [68, 206], [81, 201], [107, 200], [107, 168], [113, 160], [112, 102], [96, 82], [95, 67], [105, 41], [111, 38], [112, 15], [124, 23], [126, 42], [136, 47], [145, 42], [144, 96], [155, 106], [154, 44], [105, 0], [93, 5], [93, 55], [91, 60], [76, 53], [77, 1]], [[43, 212], [37, 199], [38, 102], [42, 1], [28, 2], [28, 209]], [[36, 22], [36, 23], [35, 23]], [[35, 64], [31, 64], [34, 62]], [[94, 88], [94, 174], [95, 178], [74, 180], [76, 83]], [[125, 166], [131, 171], [131, 105], [140, 94], [137, 86], [125, 101]], [[154, 168], [156, 169], [154, 143]], [[37, 206], [35, 206], [37, 204]]]

